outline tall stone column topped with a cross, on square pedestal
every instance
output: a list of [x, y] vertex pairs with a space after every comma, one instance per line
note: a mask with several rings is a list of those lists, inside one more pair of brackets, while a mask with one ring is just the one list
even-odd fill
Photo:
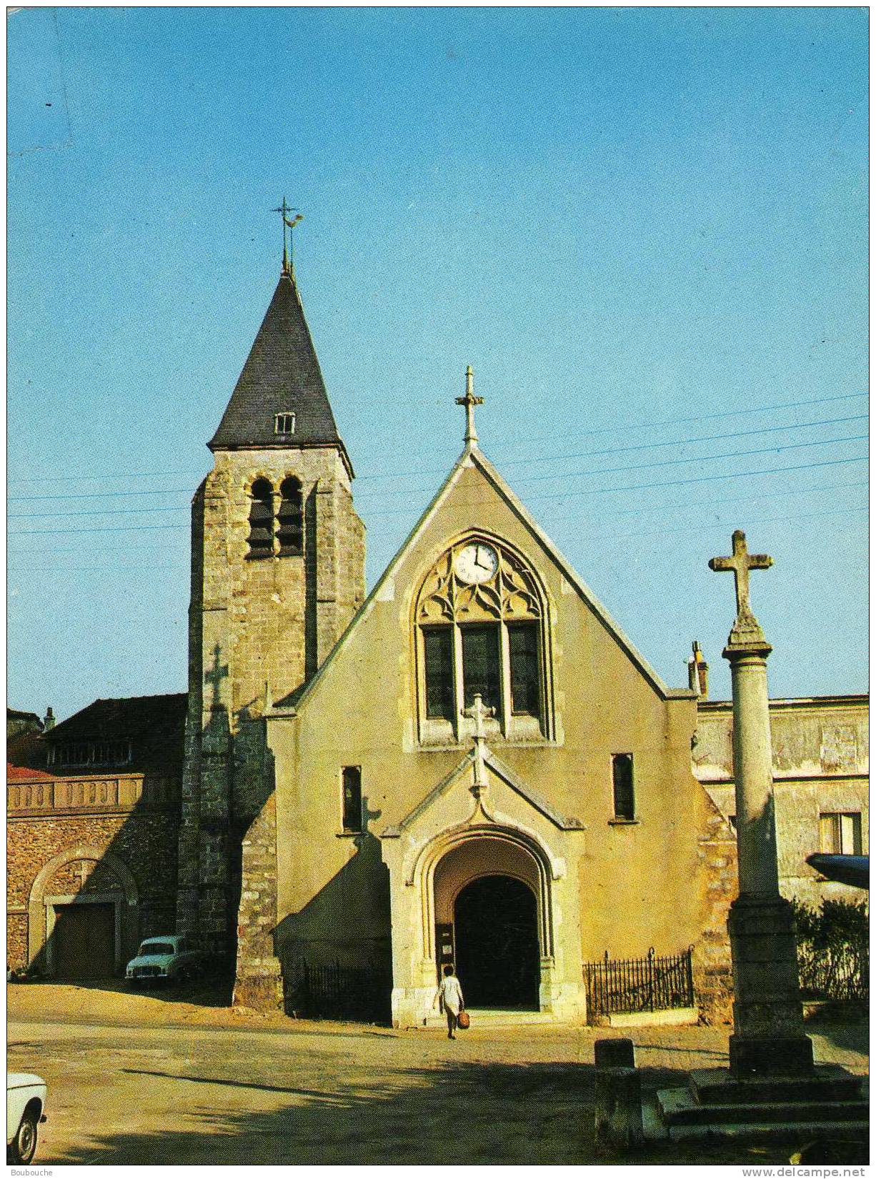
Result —
[[772, 558], [751, 554], [733, 533], [732, 556], [709, 567], [736, 578], [736, 621], [724, 658], [733, 685], [733, 778], [739, 895], [727, 929], [733, 962], [733, 1035], [730, 1069], [737, 1080], [802, 1076], [812, 1072], [812, 1042], [803, 1033], [793, 910], [778, 890], [772, 796], [768, 644], [751, 611], [749, 572]]

